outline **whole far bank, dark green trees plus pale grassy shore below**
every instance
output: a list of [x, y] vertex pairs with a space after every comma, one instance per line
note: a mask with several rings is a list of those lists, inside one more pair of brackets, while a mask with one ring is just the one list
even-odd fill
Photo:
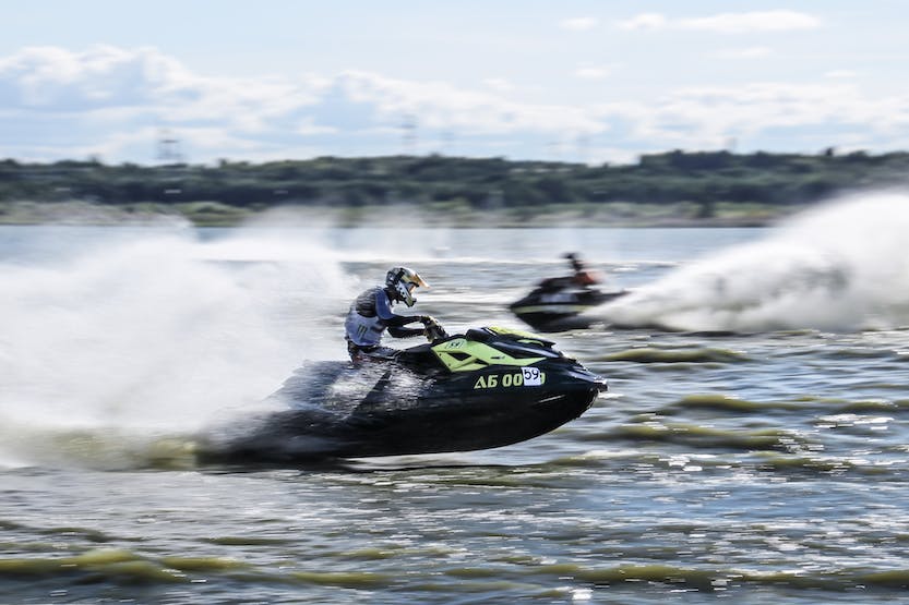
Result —
[[236, 225], [263, 210], [342, 223], [414, 216], [464, 226], [762, 225], [835, 194], [909, 182], [909, 154], [670, 152], [635, 165], [502, 158], [322, 157], [217, 166], [0, 161], [0, 222], [183, 216]]

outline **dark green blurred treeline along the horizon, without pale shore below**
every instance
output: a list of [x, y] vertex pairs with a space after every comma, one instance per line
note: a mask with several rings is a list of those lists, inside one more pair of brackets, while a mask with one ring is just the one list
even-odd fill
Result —
[[122, 205], [211, 201], [251, 210], [452, 202], [476, 209], [573, 203], [803, 205], [853, 189], [909, 182], [909, 154], [670, 152], [634, 165], [502, 158], [322, 157], [216, 166], [0, 161], [0, 201]]

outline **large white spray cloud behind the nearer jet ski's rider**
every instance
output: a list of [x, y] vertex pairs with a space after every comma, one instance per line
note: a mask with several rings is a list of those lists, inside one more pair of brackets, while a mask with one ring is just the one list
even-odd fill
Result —
[[[0, 461], [69, 456], [86, 435], [191, 433], [255, 406], [303, 358], [339, 359], [320, 330], [350, 292], [325, 249], [139, 233], [0, 267]], [[250, 251], [270, 262], [236, 262]]]

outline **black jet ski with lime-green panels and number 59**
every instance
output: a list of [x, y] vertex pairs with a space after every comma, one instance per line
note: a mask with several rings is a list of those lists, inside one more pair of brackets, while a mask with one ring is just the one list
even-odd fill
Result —
[[307, 363], [270, 397], [278, 411], [213, 431], [200, 458], [307, 462], [524, 441], [576, 419], [607, 389], [552, 344], [485, 327], [388, 361]]

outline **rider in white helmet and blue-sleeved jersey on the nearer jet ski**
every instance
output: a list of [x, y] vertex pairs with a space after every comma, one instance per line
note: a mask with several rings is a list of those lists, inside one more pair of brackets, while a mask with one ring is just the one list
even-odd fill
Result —
[[[429, 288], [416, 271], [407, 267], [394, 267], [385, 276], [385, 286], [375, 286], [361, 293], [350, 304], [344, 328], [347, 332], [347, 352], [352, 361], [364, 359], [388, 360], [398, 351], [382, 347], [382, 335], [387, 328], [395, 338], [427, 336], [435, 320], [428, 315], [397, 315], [392, 311], [395, 302], [414, 306], [417, 299], [414, 290], [422, 286]], [[422, 322], [423, 328], [406, 328], [408, 324]]]

